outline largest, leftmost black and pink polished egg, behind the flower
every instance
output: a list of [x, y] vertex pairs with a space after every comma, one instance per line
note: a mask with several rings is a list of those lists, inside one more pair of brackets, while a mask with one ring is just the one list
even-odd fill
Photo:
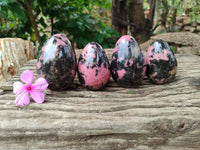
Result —
[[44, 77], [51, 90], [65, 90], [77, 69], [75, 51], [64, 34], [55, 34], [43, 45], [37, 61], [38, 77]]

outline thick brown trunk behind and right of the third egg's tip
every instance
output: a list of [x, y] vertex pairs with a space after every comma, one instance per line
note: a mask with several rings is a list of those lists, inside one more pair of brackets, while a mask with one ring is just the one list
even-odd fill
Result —
[[147, 40], [147, 32], [145, 31], [145, 17], [143, 11], [143, 0], [129, 1], [129, 21], [131, 24], [131, 35], [138, 43]]

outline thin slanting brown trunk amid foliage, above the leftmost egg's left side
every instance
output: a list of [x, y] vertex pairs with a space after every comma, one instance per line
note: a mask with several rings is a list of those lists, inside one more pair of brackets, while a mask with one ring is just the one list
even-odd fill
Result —
[[38, 40], [39, 43], [41, 43], [41, 42], [42, 42], [41, 36], [40, 36], [40, 34], [39, 34], [38, 26], [37, 26], [37, 23], [36, 23], [36, 21], [35, 21], [35, 17], [34, 17], [33, 12], [32, 12], [31, 0], [25, 0], [25, 3], [26, 3], [26, 6], [27, 6], [26, 11], [27, 11], [27, 13], [28, 13], [28, 15], [29, 15], [29, 18], [30, 18], [30, 20], [31, 20], [33, 29], [34, 29], [35, 34], [36, 34], [36, 37], [37, 37], [37, 40]]

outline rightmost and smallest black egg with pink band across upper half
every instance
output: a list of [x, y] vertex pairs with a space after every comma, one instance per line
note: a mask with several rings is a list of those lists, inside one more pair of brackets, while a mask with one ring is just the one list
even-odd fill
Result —
[[175, 78], [177, 61], [167, 42], [157, 39], [147, 51], [147, 76], [155, 84], [163, 84]]

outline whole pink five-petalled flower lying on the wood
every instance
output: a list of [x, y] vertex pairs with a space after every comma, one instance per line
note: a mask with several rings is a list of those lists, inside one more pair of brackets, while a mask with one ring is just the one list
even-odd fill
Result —
[[35, 83], [33, 82], [33, 72], [30, 70], [24, 71], [21, 76], [21, 82], [15, 82], [13, 84], [13, 93], [17, 95], [15, 104], [19, 106], [26, 106], [30, 103], [29, 93], [36, 103], [43, 103], [45, 95], [42, 91], [46, 90], [48, 83], [44, 78], [38, 78]]

